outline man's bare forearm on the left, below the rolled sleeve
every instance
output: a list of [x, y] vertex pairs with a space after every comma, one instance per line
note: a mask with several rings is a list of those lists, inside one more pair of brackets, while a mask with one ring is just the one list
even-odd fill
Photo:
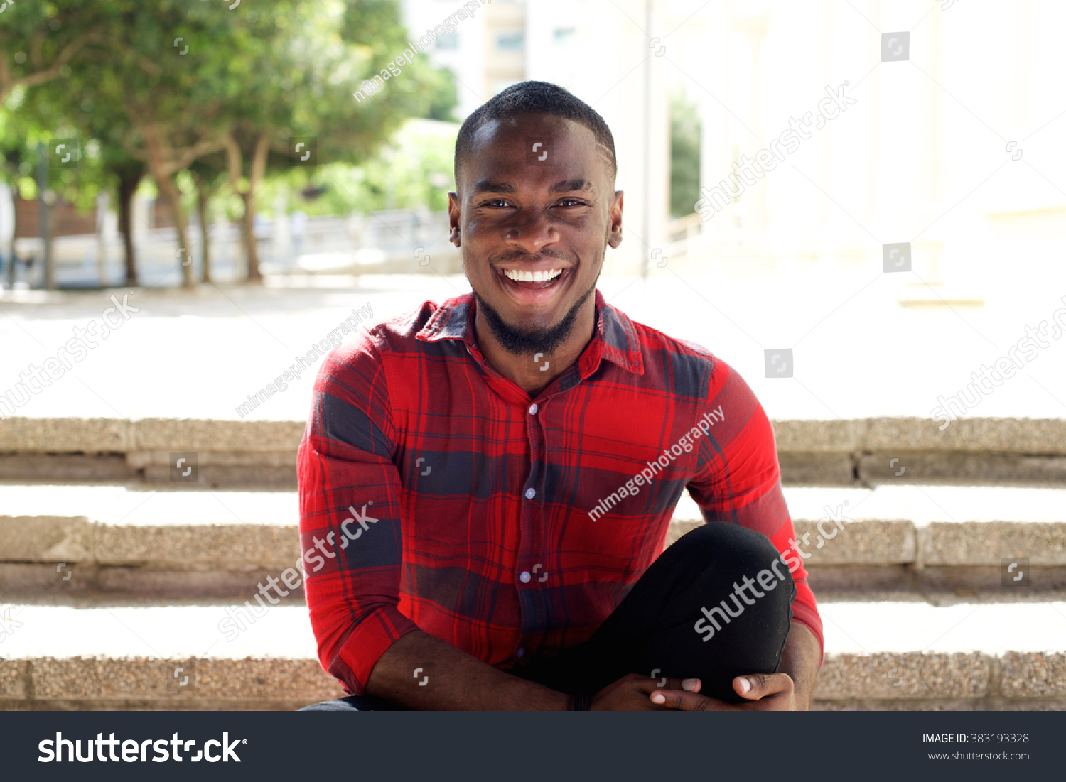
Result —
[[421, 711], [566, 711], [570, 705], [570, 696], [498, 670], [420, 630], [386, 650], [370, 673], [367, 695]]

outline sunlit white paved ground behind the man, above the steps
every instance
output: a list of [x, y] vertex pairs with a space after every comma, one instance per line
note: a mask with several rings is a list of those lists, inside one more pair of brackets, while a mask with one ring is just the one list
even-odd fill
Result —
[[[698, 342], [738, 369], [771, 418], [930, 414], [940, 394], [991, 365], [1027, 325], [1052, 323], [1066, 306], [1066, 266], [1040, 280], [1005, 277], [981, 291], [984, 306], [951, 307], [927, 287], [877, 270], [779, 270], [773, 278], [652, 268], [647, 282], [603, 277], [600, 289], [635, 320]], [[236, 419], [236, 408], [369, 306], [371, 322], [424, 299], [466, 292], [461, 276], [367, 276], [318, 288], [201, 287], [138, 290], [140, 308], [109, 339], [19, 410], [31, 417], [199, 417]], [[99, 319], [112, 292], [6, 292], [0, 298], [0, 394]], [[123, 291], [117, 291], [124, 294]], [[951, 290], [940, 292], [951, 296]], [[122, 296], [119, 296], [122, 298]], [[931, 307], [900, 300], [930, 299]], [[1066, 319], [1064, 319], [1066, 322]], [[1066, 339], [1047, 347], [972, 409], [973, 416], [1066, 416]], [[764, 348], [792, 347], [795, 375], [764, 377]], [[306, 418], [305, 372], [252, 418]]]

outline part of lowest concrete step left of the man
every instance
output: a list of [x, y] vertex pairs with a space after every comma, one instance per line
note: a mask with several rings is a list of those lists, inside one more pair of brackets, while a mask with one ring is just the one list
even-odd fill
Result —
[[253, 605], [264, 616], [241, 606], [248, 618], [228, 642], [221, 605], [3, 606], [0, 710], [293, 710], [342, 697], [306, 607]]

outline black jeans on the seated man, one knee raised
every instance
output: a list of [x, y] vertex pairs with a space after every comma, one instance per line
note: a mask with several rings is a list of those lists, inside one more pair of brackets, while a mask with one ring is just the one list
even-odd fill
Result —
[[[734, 677], [777, 670], [795, 594], [769, 538], [734, 524], [704, 524], [651, 563], [586, 641], [508, 672], [588, 695], [627, 673], [695, 677], [702, 695], [736, 703]], [[351, 696], [301, 711], [403, 708]]]

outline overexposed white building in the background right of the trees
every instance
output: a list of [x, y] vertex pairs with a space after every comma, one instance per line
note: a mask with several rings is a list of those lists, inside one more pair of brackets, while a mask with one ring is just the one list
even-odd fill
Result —
[[[413, 31], [457, 7], [405, 2]], [[1063, 248], [1064, 26], [1053, 0], [495, 0], [433, 56], [458, 78], [459, 118], [521, 79], [561, 84], [603, 115], [626, 192], [614, 271], [646, 268], [657, 249], [764, 273], [865, 267], [883, 244], [909, 242], [906, 280], [962, 295], [1017, 242], [1048, 262]], [[906, 52], [883, 61], [897, 34]], [[730, 180], [841, 91], [854, 103], [772, 172]], [[668, 219], [674, 93], [698, 105], [701, 185], [733, 183], [709, 219]]]

